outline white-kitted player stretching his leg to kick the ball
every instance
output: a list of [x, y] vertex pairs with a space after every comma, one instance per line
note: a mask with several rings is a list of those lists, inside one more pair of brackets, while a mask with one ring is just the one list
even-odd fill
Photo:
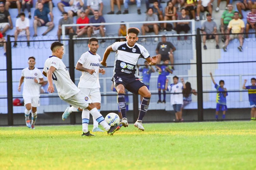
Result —
[[[101, 126], [107, 131], [108, 134], [113, 134], [119, 130], [122, 125], [109, 126], [105, 121], [104, 117], [97, 110], [96, 105], [92, 103], [89, 96], [76, 87], [74, 82], [70, 79], [69, 72], [62, 62], [62, 56], [64, 54], [63, 44], [60, 42], [54, 42], [51, 45], [52, 56], [45, 61], [43, 75], [47, 76], [49, 83], [47, 91], [50, 93], [54, 92], [53, 82], [58, 91], [60, 99], [72, 105], [75, 108], [82, 109], [84, 114], [84, 130], [82, 136], [94, 136], [88, 131], [89, 113], [101, 124]], [[89, 112], [86, 111], [89, 110]], [[62, 115], [62, 120], [66, 120], [70, 113], [67, 112], [68, 108]], [[84, 113], [83, 113], [84, 112]]]

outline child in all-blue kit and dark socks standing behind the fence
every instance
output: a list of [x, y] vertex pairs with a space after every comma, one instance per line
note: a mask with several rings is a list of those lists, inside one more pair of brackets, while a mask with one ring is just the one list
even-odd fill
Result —
[[[157, 88], [158, 88], [158, 101], [157, 103], [166, 103], [165, 101], [165, 97], [166, 97], [166, 92], [165, 92], [165, 83], [166, 83], [166, 79], [170, 73], [173, 73], [173, 69], [171, 68], [171, 66], [168, 66], [170, 60], [166, 59], [163, 62], [163, 65], [160, 66], [156, 66], [156, 68], [159, 71], [159, 76], [157, 79]], [[170, 68], [169, 68], [170, 67]], [[163, 91], [163, 101], [161, 100], [161, 89]]]

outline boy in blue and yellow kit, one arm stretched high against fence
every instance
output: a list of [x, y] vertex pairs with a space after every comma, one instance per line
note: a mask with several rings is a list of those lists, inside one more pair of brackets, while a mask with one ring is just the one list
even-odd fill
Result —
[[211, 80], [214, 84], [214, 87], [217, 90], [217, 95], [216, 95], [216, 115], [215, 118], [216, 120], [218, 120], [218, 115], [219, 115], [219, 111], [222, 111], [222, 119], [225, 119], [226, 117], [226, 110], [227, 109], [227, 105], [226, 105], [226, 96], [228, 95], [227, 89], [224, 88], [224, 80], [220, 80], [219, 85], [216, 84], [216, 82], [214, 81], [212, 74], [210, 73], [211, 76]]

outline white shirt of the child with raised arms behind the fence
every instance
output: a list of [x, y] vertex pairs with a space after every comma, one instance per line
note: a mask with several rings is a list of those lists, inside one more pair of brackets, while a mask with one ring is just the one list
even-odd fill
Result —
[[168, 86], [168, 91], [171, 93], [178, 93], [178, 94], [171, 94], [171, 104], [183, 104], [183, 94], [182, 94], [183, 84], [178, 82], [177, 84], [170, 84]]

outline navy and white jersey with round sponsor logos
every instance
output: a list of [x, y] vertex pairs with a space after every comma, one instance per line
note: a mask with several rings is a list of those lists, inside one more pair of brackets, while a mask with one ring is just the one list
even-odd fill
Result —
[[146, 48], [138, 43], [130, 47], [126, 41], [116, 42], [112, 44], [112, 49], [117, 51], [114, 63], [114, 74], [125, 75], [127, 77], [138, 76], [138, 59], [150, 57]]

